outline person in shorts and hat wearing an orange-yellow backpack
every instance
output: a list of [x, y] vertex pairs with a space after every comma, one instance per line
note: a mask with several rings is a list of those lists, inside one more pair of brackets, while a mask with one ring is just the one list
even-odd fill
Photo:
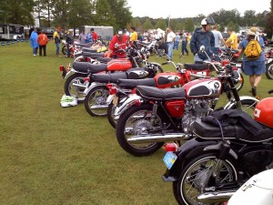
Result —
[[258, 36], [258, 27], [251, 27], [247, 37], [239, 43], [240, 53], [243, 52], [243, 67], [245, 74], [249, 76], [251, 93], [257, 97], [257, 87], [261, 75], [266, 72], [264, 40]]

